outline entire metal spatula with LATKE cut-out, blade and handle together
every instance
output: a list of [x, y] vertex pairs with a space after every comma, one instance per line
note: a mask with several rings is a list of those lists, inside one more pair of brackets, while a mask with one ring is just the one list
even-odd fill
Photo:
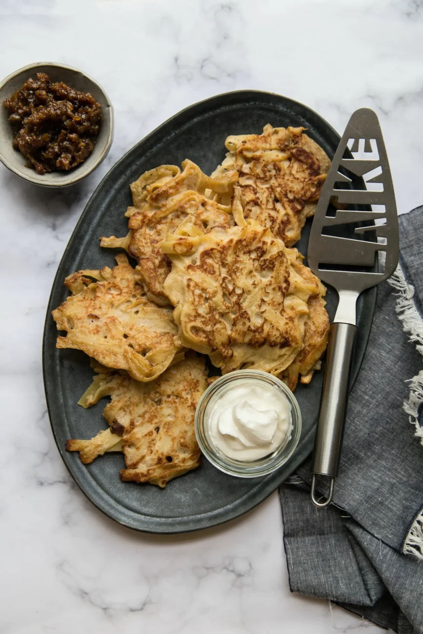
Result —
[[[357, 188], [363, 181], [366, 190]], [[370, 226], [363, 226], [363, 221]], [[336, 235], [340, 229], [352, 237]], [[386, 253], [382, 273], [377, 267], [379, 251]], [[339, 294], [330, 326], [313, 455], [311, 500], [317, 507], [329, 505], [334, 493], [355, 342], [356, 301], [363, 290], [393, 274], [398, 254], [398, 216], [381, 127], [373, 110], [361, 108], [349, 119], [335, 152], [308, 243], [311, 271]], [[326, 500], [316, 499], [316, 474], [330, 477]]]

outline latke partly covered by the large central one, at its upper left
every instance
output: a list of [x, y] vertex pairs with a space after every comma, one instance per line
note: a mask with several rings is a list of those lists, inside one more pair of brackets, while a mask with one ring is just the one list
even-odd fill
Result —
[[[169, 304], [163, 293], [163, 282], [171, 271], [169, 257], [162, 252], [166, 234], [173, 232], [186, 219], [202, 232], [216, 225], [233, 226], [230, 198], [236, 171], [219, 178], [206, 176], [190, 160], [182, 164], [162, 165], [145, 172], [131, 185], [134, 206], [129, 207], [129, 235], [126, 238], [101, 238], [102, 247], [123, 247], [139, 265], [148, 297], [157, 304]], [[217, 193], [217, 200], [205, 198], [205, 188]], [[221, 204], [224, 201], [226, 205]]]

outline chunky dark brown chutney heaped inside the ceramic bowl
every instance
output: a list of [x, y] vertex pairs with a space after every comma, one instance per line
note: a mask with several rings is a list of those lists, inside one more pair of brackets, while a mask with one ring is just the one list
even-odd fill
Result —
[[101, 107], [91, 94], [37, 73], [4, 105], [11, 113], [13, 147], [38, 174], [72, 169], [93, 152]]

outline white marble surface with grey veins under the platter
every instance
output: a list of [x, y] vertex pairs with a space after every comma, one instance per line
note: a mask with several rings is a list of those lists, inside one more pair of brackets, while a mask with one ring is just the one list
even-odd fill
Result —
[[275, 494], [187, 536], [133, 533], [98, 512], [51, 436], [41, 335], [56, 267], [96, 184], [160, 122], [213, 94], [285, 94], [339, 131], [355, 108], [374, 108], [398, 208], [421, 204], [422, 20], [421, 0], [0, 3], [0, 77], [62, 61], [98, 79], [115, 107], [112, 151], [81, 185], [52, 193], [0, 165], [2, 634], [382, 631], [290, 594]]

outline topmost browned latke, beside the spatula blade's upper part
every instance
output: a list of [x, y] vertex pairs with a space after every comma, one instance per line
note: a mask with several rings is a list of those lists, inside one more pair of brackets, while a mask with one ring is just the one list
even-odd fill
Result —
[[245, 219], [270, 228], [287, 247], [313, 216], [330, 160], [303, 127], [264, 126], [263, 134], [228, 136], [226, 159], [212, 176], [236, 169]]

